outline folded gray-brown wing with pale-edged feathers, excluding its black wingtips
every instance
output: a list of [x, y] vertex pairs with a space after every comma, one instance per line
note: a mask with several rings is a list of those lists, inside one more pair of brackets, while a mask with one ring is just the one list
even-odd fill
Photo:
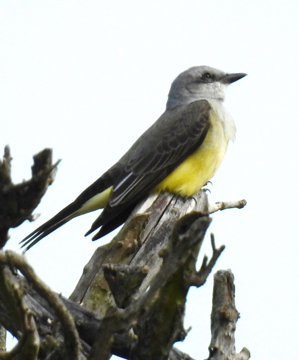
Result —
[[210, 112], [207, 100], [165, 111], [120, 160], [125, 164], [110, 206], [140, 198], [191, 155], [207, 134]]

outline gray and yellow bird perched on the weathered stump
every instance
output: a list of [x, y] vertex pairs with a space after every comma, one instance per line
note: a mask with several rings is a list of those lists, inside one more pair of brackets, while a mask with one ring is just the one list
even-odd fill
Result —
[[215, 175], [236, 127], [223, 102], [227, 85], [245, 73], [194, 66], [172, 82], [165, 112], [129, 150], [72, 203], [20, 244], [27, 251], [69, 220], [98, 209], [85, 236], [97, 240], [123, 224], [149, 193], [192, 197]]

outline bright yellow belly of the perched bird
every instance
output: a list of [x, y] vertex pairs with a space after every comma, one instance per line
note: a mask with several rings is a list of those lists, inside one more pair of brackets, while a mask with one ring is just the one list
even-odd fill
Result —
[[153, 192], [169, 190], [190, 197], [215, 175], [229, 139], [225, 136], [223, 125], [217, 116], [210, 116], [210, 122], [210, 129], [201, 146], [155, 186]]

